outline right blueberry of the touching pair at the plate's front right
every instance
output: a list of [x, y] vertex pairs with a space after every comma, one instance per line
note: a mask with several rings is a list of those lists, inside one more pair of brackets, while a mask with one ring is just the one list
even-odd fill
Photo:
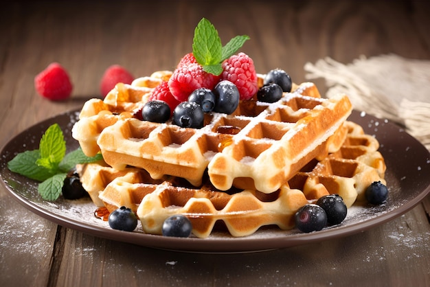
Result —
[[322, 196], [317, 200], [317, 205], [326, 211], [327, 222], [330, 225], [338, 225], [346, 218], [348, 210], [343, 198], [338, 194]]

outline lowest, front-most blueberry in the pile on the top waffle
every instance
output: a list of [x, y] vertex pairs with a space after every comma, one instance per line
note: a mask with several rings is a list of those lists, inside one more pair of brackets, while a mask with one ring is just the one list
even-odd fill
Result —
[[181, 102], [173, 111], [173, 122], [181, 128], [202, 128], [204, 113], [195, 102]]

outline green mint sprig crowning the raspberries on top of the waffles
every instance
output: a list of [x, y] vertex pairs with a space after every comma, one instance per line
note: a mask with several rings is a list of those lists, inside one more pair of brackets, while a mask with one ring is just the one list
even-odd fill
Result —
[[222, 62], [234, 55], [247, 40], [247, 35], [236, 36], [223, 47], [214, 25], [203, 18], [194, 30], [192, 54], [204, 71], [218, 76], [223, 72]]

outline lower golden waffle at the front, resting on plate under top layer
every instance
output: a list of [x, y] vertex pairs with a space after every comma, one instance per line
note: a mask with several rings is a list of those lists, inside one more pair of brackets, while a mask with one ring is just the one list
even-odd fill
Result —
[[174, 214], [188, 216], [192, 233], [199, 238], [210, 236], [218, 220], [225, 223], [232, 236], [250, 235], [264, 225], [291, 229], [295, 211], [308, 203], [300, 190], [286, 185], [272, 194], [255, 190], [231, 190], [236, 193], [228, 194], [209, 183], [192, 187], [171, 176], [157, 181], [144, 170], [126, 168], [120, 172], [103, 163], [87, 163], [79, 171], [83, 185], [95, 181], [104, 186], [98, 192], [98, 200], [109, 212], [122, 206], [132, 209], [142, 222], [142, 229], [150, 234], [161, 234], [163, 221]]

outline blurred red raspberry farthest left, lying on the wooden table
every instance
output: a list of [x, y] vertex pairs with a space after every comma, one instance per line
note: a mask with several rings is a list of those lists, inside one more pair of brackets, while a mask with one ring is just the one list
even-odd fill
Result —
[[49, 100], [66, 100], [72, 90], [67, 71], [58, 62], [51, 63], [34, 77], [36, 91]]

